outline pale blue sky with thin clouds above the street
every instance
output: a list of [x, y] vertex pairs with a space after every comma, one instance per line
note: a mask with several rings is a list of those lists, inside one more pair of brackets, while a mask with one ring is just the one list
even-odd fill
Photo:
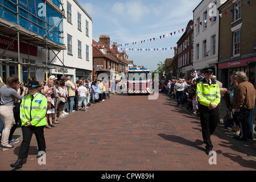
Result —
[[133, 60], [135, 65], [143, 65], [150, 71], [157, 69], [160, 61], [174, 57], [173, 47], [183, 35], [181, 29], [187, 27], [189, 20], [193, 19], [193, 10], [201, 2], [201, 0], [77, 1], [92, 17], [93, 40], [98, 42], [100, 35], [109, 35], [110, 44], [116, 42], [120, 45], [119, 52], [125, 49], [129, 60]]

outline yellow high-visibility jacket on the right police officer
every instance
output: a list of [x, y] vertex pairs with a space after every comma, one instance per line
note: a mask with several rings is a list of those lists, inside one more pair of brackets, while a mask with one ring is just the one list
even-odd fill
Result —
[[218, 83], [212, 80], [212, 84], [209, 85], [207, 80], [204, 78], [197, 84], [196, 96], [201, 105], [209, 106], [210, 103], [212, 103], [217, 106], [221, 100]]

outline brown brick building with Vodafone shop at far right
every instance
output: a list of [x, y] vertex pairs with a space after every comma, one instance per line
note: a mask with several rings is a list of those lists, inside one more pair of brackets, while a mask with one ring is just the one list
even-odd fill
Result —
[[256, 63], [256, 2], [226, 1], [218, 8], [220, 14], [219, 80], [224, 87], [230, 84], [230, 76], [244, 71], [254, 86]]

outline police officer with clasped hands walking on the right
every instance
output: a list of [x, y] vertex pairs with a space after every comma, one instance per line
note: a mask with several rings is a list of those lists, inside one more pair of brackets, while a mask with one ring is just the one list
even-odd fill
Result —
[[212, 68], [204, 68], [204, 79], [197, 84], [196, 94], [200, 102], [200, 122], [202, 127], [202, 134], [204, 143], [206, 144], [207, 155], [212, 155], [212, 141], [210, 135], [218, 125], [218, 109], [217, 105], [220, 103], [220, 88], [218, 83], [211, 79], [213, 75]]

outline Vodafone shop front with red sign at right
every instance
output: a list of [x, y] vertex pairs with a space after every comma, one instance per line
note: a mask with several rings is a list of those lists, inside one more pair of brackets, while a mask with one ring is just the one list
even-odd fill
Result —
[[250, 81], [255, 87], [255, 62], [256, 57], [250, 57], [241, 60], [233, 60], [219, 63], [218, 71], [220, 78], [218, 78], [218, 80], [222, 82], [223, 87], [228, 88], [228, 85], [230, 84], [230, 77], [237, 71], [243, 71], [246, 73], [248, 81]]

